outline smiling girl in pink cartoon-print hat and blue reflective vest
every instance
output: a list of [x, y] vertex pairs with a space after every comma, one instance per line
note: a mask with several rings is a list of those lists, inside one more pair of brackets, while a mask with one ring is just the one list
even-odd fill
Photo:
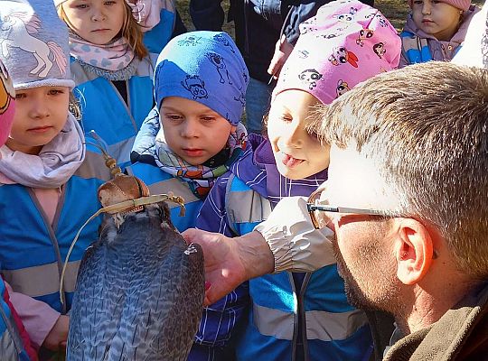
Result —
[[[307, 132], [314, 107], [395, 69], [399, 51], [398, 33], [388, 20], [359, 1], [324, 5], [302, 23], [273, 92], [267, 139], [249, 136], [253, 150], [217, 180], [197, 227], [241, 236], [265, 220], [280, 199], [316, 190], [327, 179], [329, 146]], [[294, 226], [296, 231], [305, 223]], [[331, 258], [314, 273], [282, 272], [249, 281], [249, 318], [236, 327], [242, 332], [235, 331], [238, 360], [371, 356], [368, 320], [347, 303], [332, 245], [325, 246], [331, 246]], [[285, 255], [280, 250], [275, 256]]]

